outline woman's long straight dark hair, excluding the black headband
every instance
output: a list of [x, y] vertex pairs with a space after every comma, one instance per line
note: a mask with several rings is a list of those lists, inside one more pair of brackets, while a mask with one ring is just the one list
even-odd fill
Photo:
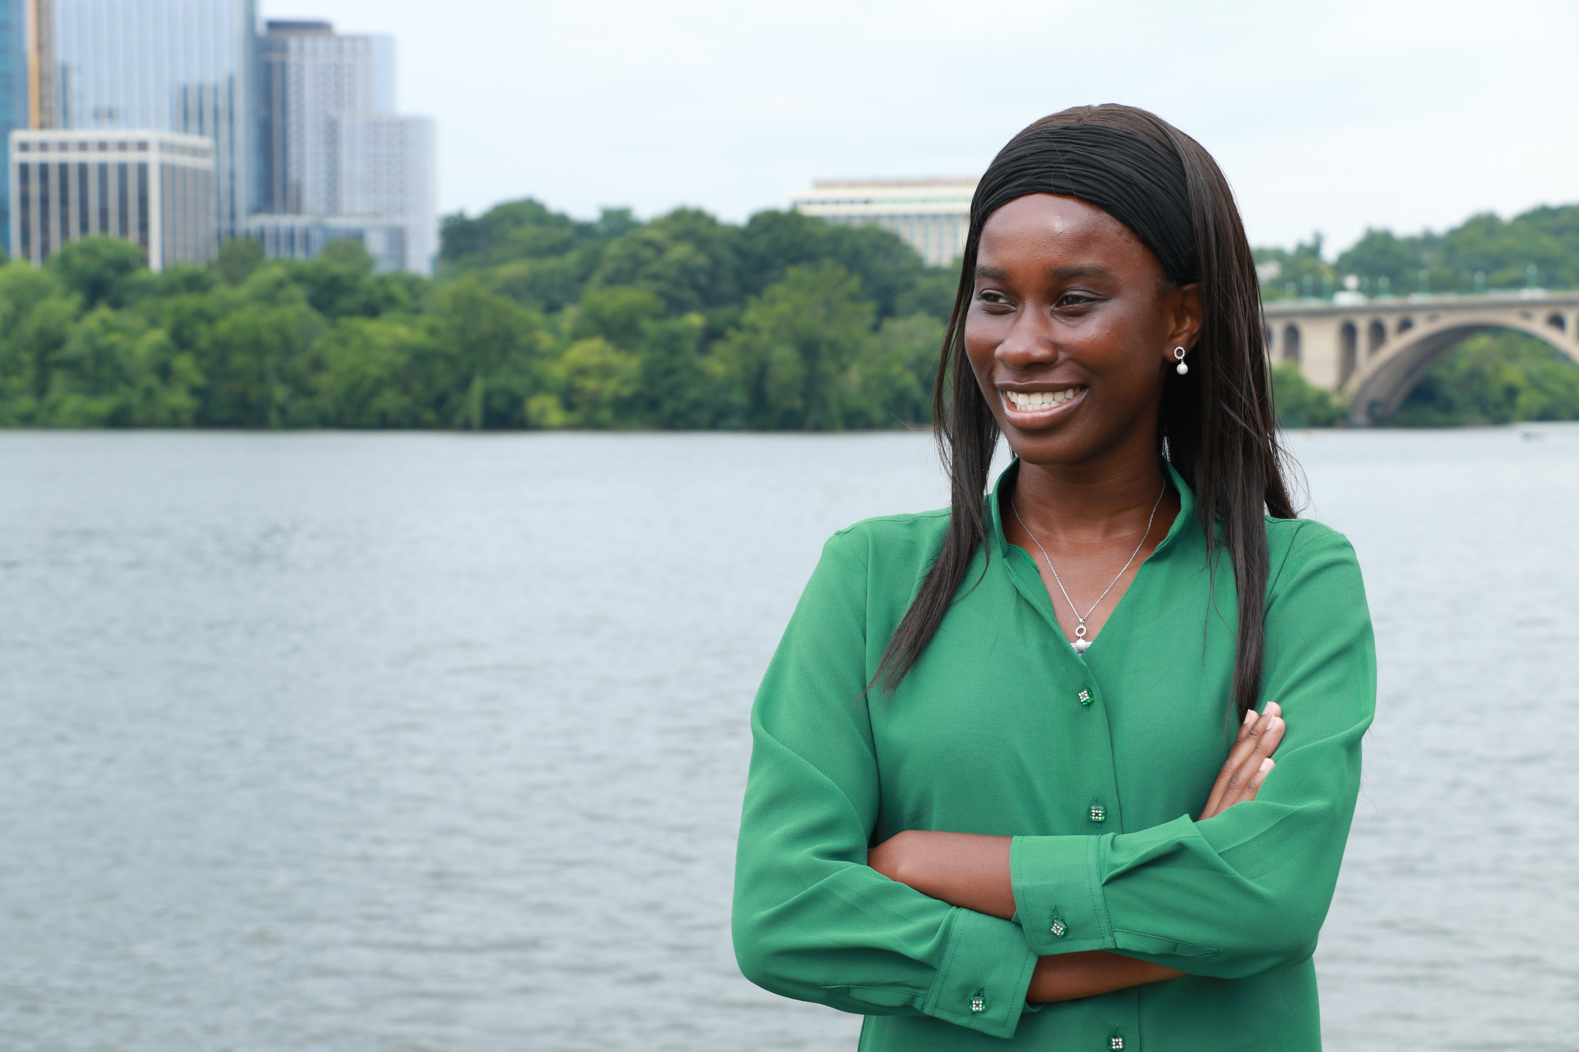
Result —
[[[1191, 279], [1200, 284], [1202, 328], [1189, 372], [1165, 374], [1157, 440], [1159, 454], [1165, 448], [1168, 461], [1195, 491], [1210, 566], [1214, 569], [1224, 552], [1233, 566], [1240, 599], [1233, 705], [1243, 719], [1255, 707], [1262, 681], [1268, 576], [1263, 516], [1292, 519], [1296, 514], [1284, 481], [1284, 453], [1277, 443], [1260, 284], [1251, 244], [1233, 203], [1233, 191], [1217, 162], [1198, 142], [1143, 109], [1077, 106], [1044, 117], [1004, 147], [993, 161], [993, 169], [1006, 164], [1015, 145], [1028, 136], [1067, 125], [1138, 136], [1183, 166], [1189, 235], [1194, 240]], [[1022, 151], [1020, 161], [1023, 159]], [[898, 686], [932, 642], [965, 582], [976, 549], [985, 549], [988, 536], [990, 517], [982, 495], [1000, 432], [965, 356], [965, 315], [976, 287], [976, 252], [982, 226], [990, 215], [984, 207], [984, 192], [993, 180], [993, 169], [982, 177], [971, 207], [960, 287], [954, 297], [933, 390], [938, 451], [949, 473], [949, 530], [873, 678], [887, 692]], [[1156, 205], [1156, 192], [1148, 194], [1145, 188], [1137, 192]], [[1156, 241], [1151, 248], [1157, 249]], [[1168, 267], [1167, 259], [1162, 262], [1170, 270], [1170, 279], [1176, 281], [1176, 273], [1172, 273], [1176, 267]]]

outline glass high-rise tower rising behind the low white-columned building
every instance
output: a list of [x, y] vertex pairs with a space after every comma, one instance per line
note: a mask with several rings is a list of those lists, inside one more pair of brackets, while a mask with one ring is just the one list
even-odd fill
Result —
[[36, 126], [213, 140], [215, 230], [259, 189], [256, 0], [30, 0]]

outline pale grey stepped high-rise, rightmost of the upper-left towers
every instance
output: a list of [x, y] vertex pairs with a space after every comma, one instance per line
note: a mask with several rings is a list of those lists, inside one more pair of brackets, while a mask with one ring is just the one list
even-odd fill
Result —
[[401, 265], [426, 271], [434, 241], [433, 121], [395, 112], [393, 41], [335, 33], [328, 22], [268, 22], [259, 49], [265, 215], [251, 227], [275, 232], [264, 238], [265, 251], [328, 237], [295, 230], [374, 230], [392, 221], [404, 229]]

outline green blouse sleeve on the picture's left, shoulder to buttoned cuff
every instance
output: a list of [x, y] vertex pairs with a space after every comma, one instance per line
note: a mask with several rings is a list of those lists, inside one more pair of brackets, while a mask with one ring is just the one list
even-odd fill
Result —
[[734, 953], [748, 979], [785, 997], [1007, 1038], [1036, 965], [1020, 926], [867, 866], [878, 770], [865, 606], [867, 566], [835, 536], [752, 710]]

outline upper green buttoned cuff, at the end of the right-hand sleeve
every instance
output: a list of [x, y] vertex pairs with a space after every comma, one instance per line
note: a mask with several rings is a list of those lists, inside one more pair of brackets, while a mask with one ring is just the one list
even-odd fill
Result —
[[1097, 852], [1105, 836], [1017, 836], [1009, 849], [1015, 918], [1039, 957], [1113, 949]]

